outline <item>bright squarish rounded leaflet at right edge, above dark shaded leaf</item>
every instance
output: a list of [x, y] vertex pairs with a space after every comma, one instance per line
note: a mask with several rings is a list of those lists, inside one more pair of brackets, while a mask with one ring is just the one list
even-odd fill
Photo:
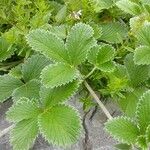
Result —
[[140, 46], [136, 48], [134, 53], [134, 62], [137, 65], [149, 65], [150, 64], [150, 47]]

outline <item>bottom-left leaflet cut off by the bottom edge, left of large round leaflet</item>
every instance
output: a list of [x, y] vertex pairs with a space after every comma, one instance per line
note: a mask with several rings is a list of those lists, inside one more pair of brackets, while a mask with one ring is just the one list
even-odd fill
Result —
[[38, 135], [37, 119], [22, 120], [10, 133], [10, 143], [14, 150], [29, 150]]

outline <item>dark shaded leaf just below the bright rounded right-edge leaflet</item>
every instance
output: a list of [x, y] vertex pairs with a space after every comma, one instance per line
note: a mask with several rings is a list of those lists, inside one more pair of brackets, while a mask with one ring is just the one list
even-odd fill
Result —
[[125, 58], [125, 66], [128, 71], [131, 86], [138, 86], [148, 79], [148, 66], [135, 65], [133, 54], [127, 55]]

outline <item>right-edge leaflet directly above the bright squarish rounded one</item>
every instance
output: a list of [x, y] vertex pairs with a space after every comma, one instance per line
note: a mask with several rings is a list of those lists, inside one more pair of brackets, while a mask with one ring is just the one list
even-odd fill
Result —
[[150, 46], [150, 23], [144, 23], [137, 33], [137, 39], [142, 45]]

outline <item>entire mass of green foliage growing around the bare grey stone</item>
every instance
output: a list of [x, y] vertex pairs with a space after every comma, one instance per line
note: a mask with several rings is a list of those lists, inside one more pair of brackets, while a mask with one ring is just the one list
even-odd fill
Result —
[[0, 13], [0, 102], [13, 101], [0, 137], [10, 132], [14, 150], [39, 134], [61, 148], [76, 143], [82, 118], [68, 101], [77, 93], [85, 112], [106, 115], [117, 149], [149, 149], [149, 0], [2, 0]]

